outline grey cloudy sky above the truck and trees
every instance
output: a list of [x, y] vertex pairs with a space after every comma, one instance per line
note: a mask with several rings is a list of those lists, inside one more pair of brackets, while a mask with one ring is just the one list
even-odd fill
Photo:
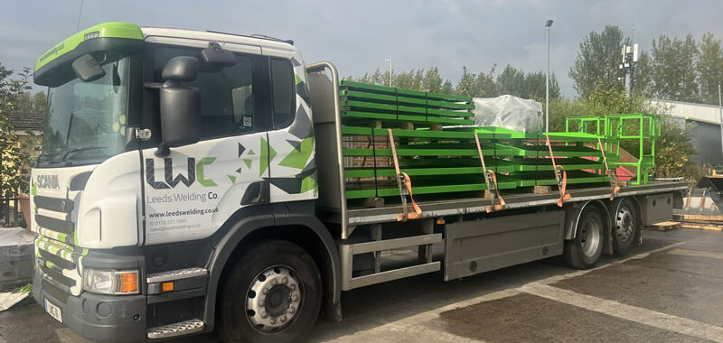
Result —
[[[44, 51], [80, 29], [128, 22], [294, 40], [306, 63], [333, 62], [342, 77], [377, 68], [437, 67], [453, 84], [462, 67], [500, 72], [507, 64], [545, 70], [544, 24], [550, 29], [550, 71], [566, 97], [576, 97], [568, 70], [591, 31], [618, 25], [643, 51], [661, 34], [699, 41], [723, 38], [723, 0], [424, 0], [190, 1], [0, 0], [0, 63], [32, 67]], [[82, 10], [80, 10], [82, 4]], [[80, 14], [80, 15], [79, 15]], [[80, 20], [79, 20], [80, 17]]]

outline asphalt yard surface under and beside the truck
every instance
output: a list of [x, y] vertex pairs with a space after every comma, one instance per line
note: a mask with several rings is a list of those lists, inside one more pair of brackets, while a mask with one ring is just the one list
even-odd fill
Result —
[[[439, 273], [343, 294], [311, 342], [723, 342], [723, 233], [643, 232], [595, 269], [558, 258], [445, 283]], [[174, 343], [215, 343], [212, 334]], [[88, 342], [34, 303], [0, 313], [0, 342]]]

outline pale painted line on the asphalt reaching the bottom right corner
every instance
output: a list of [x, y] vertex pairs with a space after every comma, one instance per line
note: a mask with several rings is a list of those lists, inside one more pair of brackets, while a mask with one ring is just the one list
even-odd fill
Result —
[[723, 328], [643, 308], [625, 305], [590, 295], [580, 294], [540, 283], [528, 283], [518, 290], [552, 301], [567, 303], [588, 311], [596, 311], [637, 323], [666, 329], [684, 335], [723, 342]]

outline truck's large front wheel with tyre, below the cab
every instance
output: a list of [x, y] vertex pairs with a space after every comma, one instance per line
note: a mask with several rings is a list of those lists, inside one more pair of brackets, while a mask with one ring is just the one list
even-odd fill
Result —
[[265, 241], [249, 249], [221, 292], [223, 341], [303, 340], [321, 308], [321, 284], [314, 259], [293, 243]]

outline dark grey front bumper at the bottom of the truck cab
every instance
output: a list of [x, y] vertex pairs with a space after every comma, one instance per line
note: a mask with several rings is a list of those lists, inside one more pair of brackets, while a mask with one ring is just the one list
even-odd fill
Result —
[[[101, 342], [139, 342], [146, 338], [146, 296], [82, 292], [72, 296], [42, 279], [34, 268], [33, 298], [47, 299], [62, 312], [62, 322], [81, 336]], [[63, 299], [65, 298], [65, 299]]]

